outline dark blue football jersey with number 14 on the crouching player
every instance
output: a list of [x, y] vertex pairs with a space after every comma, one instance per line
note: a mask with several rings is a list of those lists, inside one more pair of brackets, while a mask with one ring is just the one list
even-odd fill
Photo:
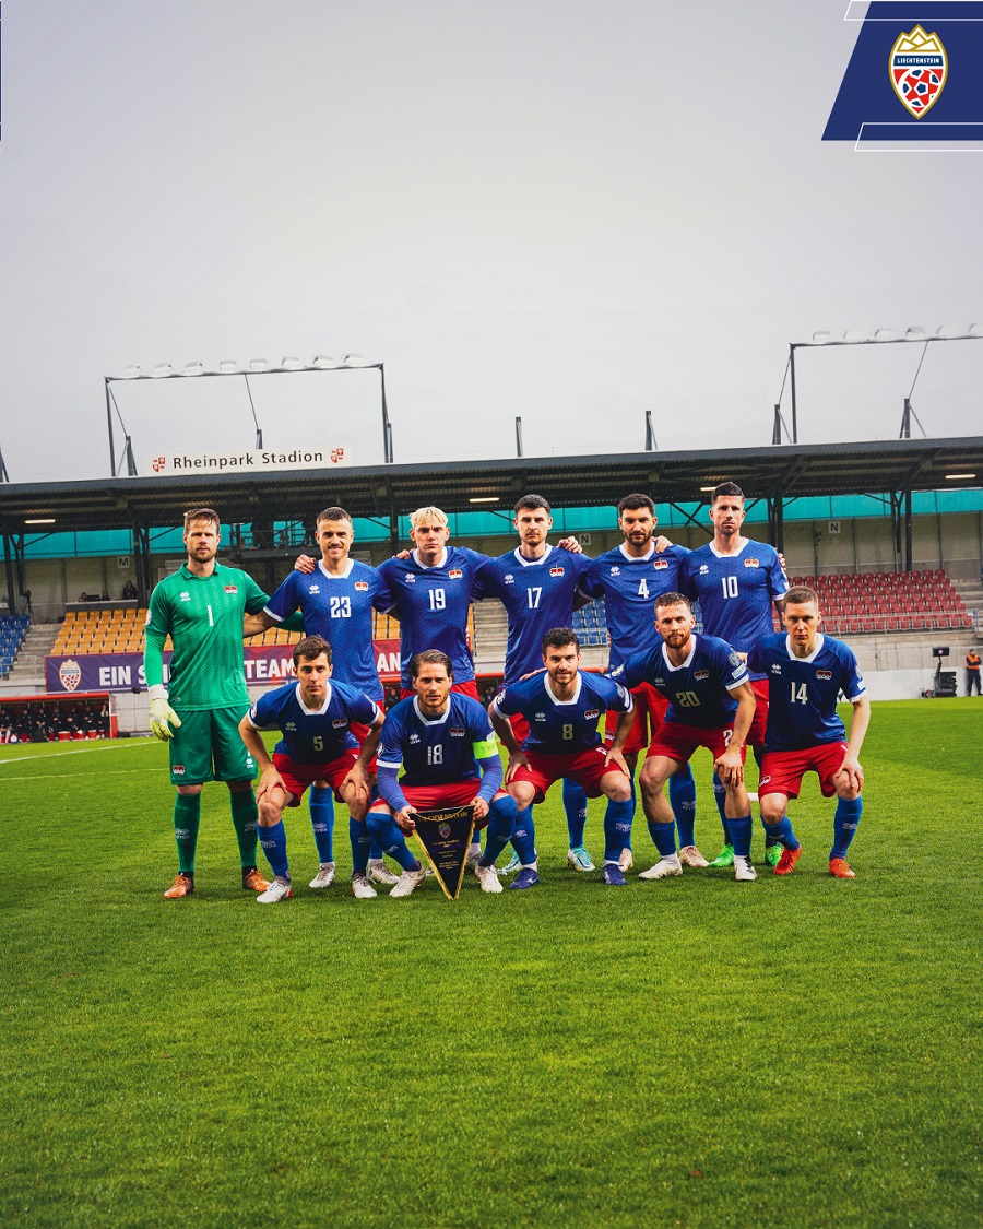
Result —
[[796, 658], [789, 637], [767, 635], [747, 658], [768, 680], [766, 751], [802, 751], [823, 742], [844, 742], [847, 729], [837, 713], [840, 692], [850, 702], [866, 693], [853, 649], [817, 633], [816, 648]]

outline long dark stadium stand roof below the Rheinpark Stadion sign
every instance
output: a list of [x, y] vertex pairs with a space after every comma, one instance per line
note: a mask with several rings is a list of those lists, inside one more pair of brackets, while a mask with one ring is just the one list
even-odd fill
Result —
[[952, 488], [947, 474], [983, 482], [983, 436], [4, 483], [0, 532], [38, 532], [25, 522], [41, 517], [54, 517], [55, 532], [177, 525], [184, 509], [202, 505], [215, 508], [226, 524], [311, 524], [329, 504], [353, 516], [388, 517], [431, 503], [448, 512], [494, 510], [493, 497], [505, 509], [527, 492], [559, 508], [617, 504], [632, 490], [664, 503], [693, 503], [726, 481], [756, 498], [881, 494]]

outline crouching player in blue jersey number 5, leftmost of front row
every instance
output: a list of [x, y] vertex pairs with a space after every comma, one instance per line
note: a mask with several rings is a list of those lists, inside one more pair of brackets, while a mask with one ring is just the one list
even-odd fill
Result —
[[[371, 787], [366, 766], [375, 755], [383, 717], [375, 701], [348, 683], [331, 682], [331, 645], [310, 635], [294, 646], [297, 682], [286, 683], [253, 704], [240, 724], [242, 741], [259, 764], [257, 790], [260, 844], [276, 876], [257, 901], [272, 905], [294, 895], [286, 859], [283, 811], [299, 806], [308, 785], [331, 788], [351, 814], [351, 891], [375, 896], [366, 871], [367, 849], [361, 839]], [[351, 726], [369, 728], [359, 753]], [[270, 761], [259, 730], [279, 729], [283, 739]], [[318, 873], [311, 885], [329, 886]], [[332, 876], [333, 880], [333, 876]]]

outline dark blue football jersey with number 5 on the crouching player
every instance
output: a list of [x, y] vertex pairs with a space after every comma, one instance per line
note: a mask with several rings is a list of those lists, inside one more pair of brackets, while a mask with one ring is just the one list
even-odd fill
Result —
[[349, 726], [371, 725], [378, 707], [365, 692], [334, 678], [328, 681], [324, 703], [310, 709], [300, 697], [300, 683], [265, 692], [249, 709], [254, 730], [280, 730], [274, 751], [299, 764], [326, 764], [350, 747], [358, 747]]

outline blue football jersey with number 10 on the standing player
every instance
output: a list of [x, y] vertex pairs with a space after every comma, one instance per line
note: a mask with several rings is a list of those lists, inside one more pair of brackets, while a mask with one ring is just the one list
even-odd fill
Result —
[[750, 653], [758, 640], [774, 635], [772, 605], [788, 591], [778, 552], [766, 542], [748, 538], [737, 554], [720, 554], [708, 542], [679, 565], [679, 592], [699, 601], [704, 632], [719, 635], [738, 653]]

